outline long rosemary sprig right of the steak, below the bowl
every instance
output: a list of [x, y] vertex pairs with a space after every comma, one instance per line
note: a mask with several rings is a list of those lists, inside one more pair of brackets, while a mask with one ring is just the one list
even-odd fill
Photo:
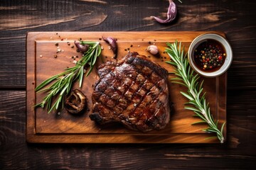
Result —
[[166, 48], [166, 52], [171, 57], [172, 61], [167, 63], [172, 64], [176, 67], [174, 74], [176, 78], [173, 78], [173, 82], [177, 84], [182, 84], [188, 88], [187, 93], [181, 91], [181, 94], [188, 98], [189, 102], [186, 103], [184, 108], [193, 111], [195, 116], [201, 118], [202, 120], [197, 123], [207, 123], [208, 128], [204, 129], [206, 132], [216, 133], [220, 143], [224, 142], [223, 137], [223, 128], [225, 123], [221, 126], [220, 130], [218, 129], [218, 120], [215, 121], [213, 115], [210, 114], [209, 103], [206, 103], [206, 92], [203, 92], [203, 81], [199, 84], [198, 79], [200, 78], [198, 74], [194, 74], [193, 69], [191, 69], [190, 64], [186, 54], [184, 55], [184, 47], [181, 49], [181, 42], [178, 45], [178, 42], [167, 43], [169, 48]]

